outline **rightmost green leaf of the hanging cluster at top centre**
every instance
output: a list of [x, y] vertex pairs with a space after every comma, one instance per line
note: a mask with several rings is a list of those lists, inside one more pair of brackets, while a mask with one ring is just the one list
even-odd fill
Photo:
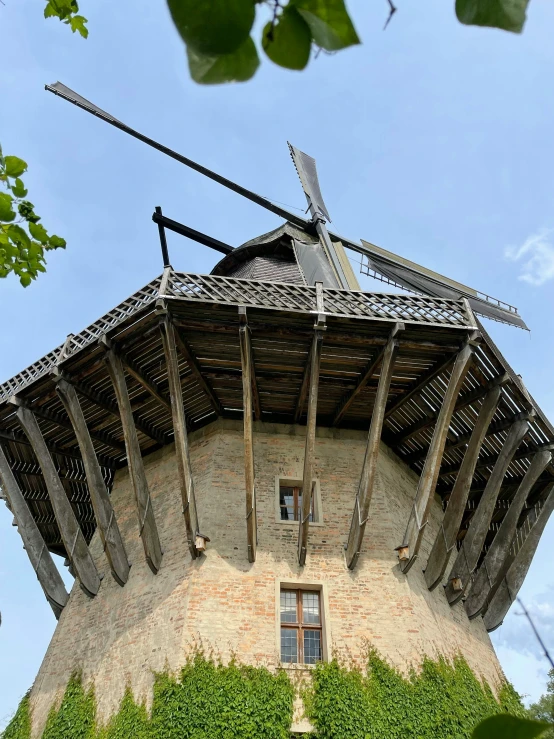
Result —
[[359, 44], [360, 39], [344, 0], [291, 0], [304, 18], [314, 41], [326, 51]]

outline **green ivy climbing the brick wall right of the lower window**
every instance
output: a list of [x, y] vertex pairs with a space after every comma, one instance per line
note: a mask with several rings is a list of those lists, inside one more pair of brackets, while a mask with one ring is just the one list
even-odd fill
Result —
[[496, 700], [461, 657], [425, 659], [406, 678], [375, 650], [366, 674], [336, 660], [318, 664], [305, 702], [318, 739], [462, 739], [488, 716], [524, 711], [511, 686]]

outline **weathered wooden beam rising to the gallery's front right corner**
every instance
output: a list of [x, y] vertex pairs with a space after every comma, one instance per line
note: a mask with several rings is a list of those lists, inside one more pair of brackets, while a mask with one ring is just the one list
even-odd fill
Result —
[[473, 361], [473, 353], [473, 342], [468, 341], [458, 353], [454, 366], [452, 367], [439, 417], [433, 431], [433, 438], [431, 439], [429, 451], [425, 459], [421, 477], [419, 478], [416, 497], [406, 527], [406, 533], [401, 543], [403, 547], [408, 547], [408, 559], [400, 562], [402, 572], [408, 572], [418, 557], [423, 532], [427, 525], [429, 508], [437, 486], [450, 421], [456, 405], [456, 399]]

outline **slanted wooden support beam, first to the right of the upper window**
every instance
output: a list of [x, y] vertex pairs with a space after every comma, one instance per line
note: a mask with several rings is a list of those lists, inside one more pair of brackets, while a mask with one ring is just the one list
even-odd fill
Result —
[[375, 473], [377, 471], [377, 459], [379, 457], [381, 431], [383, 429], [383, 421], [385, 418], [385, 408], [394, 372], [394, 362], [398, 353], [398, 340], [395, 337], [398, 331], [403, 328], [404, 324], [397, 324], [394, 327], [382, 357], [379, 385], [377, 386], [377, 395], [375, 396], [375, 403], [371, 414], [364, 464], [362, 467], [358, 492], [356, 494], [352, 523], [350, 524], [350, 533], [348, 535], [348, 544], [346, 546], [346, 563], [351, 570], [354, 569], [358, 562], [364, 538], [365, 526], [369, 516], [369, 507], [371, 505], [371, 497], [373, 495], [373, 484]]

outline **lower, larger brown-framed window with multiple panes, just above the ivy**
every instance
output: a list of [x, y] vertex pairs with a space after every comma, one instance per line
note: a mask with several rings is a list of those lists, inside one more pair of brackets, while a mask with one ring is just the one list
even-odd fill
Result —
[[281, 590], [281, 662], [315, 665], [322, 659], [321, 593]]

